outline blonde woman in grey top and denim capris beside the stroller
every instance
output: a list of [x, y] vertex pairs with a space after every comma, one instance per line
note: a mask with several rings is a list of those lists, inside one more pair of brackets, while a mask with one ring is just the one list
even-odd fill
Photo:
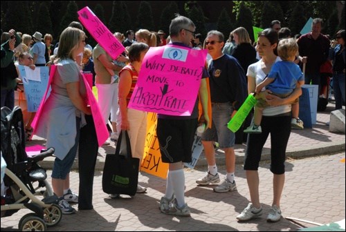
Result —
[[[75, 160], [80, 127], [84, 115], [91, 115], [86, 104], [86, 89], [75, 57], [83, 52], [85, 33], [78, 28], [66, 28], [60, 35], [55, 59], [56, 71], [51, 83], [51, 94], [42, 106], [42, 116], [35, 128], [39, 137], [47, 139], [46, 147], [55, 148], [52, 186], [62, 213], [75, 213], [68, 202], [78, 202], [70, 189], [69, 173]], [[62, 126], [63, 125], [63, 126]]]

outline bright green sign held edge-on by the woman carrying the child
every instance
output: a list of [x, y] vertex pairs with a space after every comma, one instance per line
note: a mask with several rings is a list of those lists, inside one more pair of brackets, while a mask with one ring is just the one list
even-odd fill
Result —
[[228, 122], [227, 127], [230, 129], [230, 131], [233, 131], [233, 133], [236, 133], [239, 130], [240, 126], [242, 126], [243, 122], [248, 116], [248, 113], [250, 113], [253, 106], [255, 106], [257, 103], [255, 95], [256, 93], [251, 93], [248, 95], [237, 113], [235, 113], [233, 118], [230, 119], [230, 122]]

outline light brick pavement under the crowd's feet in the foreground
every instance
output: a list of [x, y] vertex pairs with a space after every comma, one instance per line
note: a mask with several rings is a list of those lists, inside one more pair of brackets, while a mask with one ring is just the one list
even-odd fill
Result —
[[[345, 219], [345, 152], [336, 155], [307, 157], [286, 162], [286, 185], [282, 194], [282, 215], [321, 224]], [[266, 222], [272, 200], [272, 174], [268, 162], [260, 165], [260, 193], [264, 215], [249, 222], [237, 222], [235, 217], [248, 204], [249, 194], [242, 165], [237, 165], [237, 191], [214, 193], [212, 186], [197, 186], [195, 180], [205, 175], [201, 170], [185, 170], [186, 202], [191, 218], [165, 215], [158, 202], [165, 192], [165, 180], [142, 173], [141, 185], [147, 193], [132, 199], [122, 195], [111, 199], [102, 191], [102, 173], [95, 175], [92, 211], [64, 215], [49, 231], [298, 231], [300, 226], [282, 218]], [[223, 176], [224, 166], [219, 166]], [[48, 171], [48, 175], [51, 171]], [[50, 181], [50, 177], [48, 177]], [[71, 173], [71, 186], [78, 191], [78, 173]], [[77, 208], [77, 206], [75, 206]], [[14, 231], [26, 213], [24, 209], [8, 218], [1, 218], [1, 231]], [[304, 226], [313, 224], [301, 223]]]

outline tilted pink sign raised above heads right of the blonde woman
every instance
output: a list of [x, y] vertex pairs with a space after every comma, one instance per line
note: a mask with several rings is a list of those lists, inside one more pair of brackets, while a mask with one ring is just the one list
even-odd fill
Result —
[[100, 43], [100, 46], [111, 56], [116, 59], [124, 50], [124, 46], [113, 36], [106, 26], [98, 19], [98, 17], [90, 10], [84, 7], [78, 11], [78, 19], [82, 22], [90, 35]]

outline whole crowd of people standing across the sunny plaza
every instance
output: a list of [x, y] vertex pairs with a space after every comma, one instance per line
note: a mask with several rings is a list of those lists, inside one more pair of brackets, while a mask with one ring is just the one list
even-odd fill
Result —
[[[339, 30], [336, 40], [330, 41], [320, 33], [322, 19], [317, 18], [313, 19], [311, 32], [295, 39], [290, 38], [289, 28], [281, 28], [280, 21], [275, 20], [269, 28], [260, 32], [253, 46], [248, 31], [243, 27], [230, 32], [226, 43], [224, 35], [217, 30], [210, 30], [202, 41], [197, 29], [191, 19], [177, 15], [170, 23], [169, 37], [163, 30], [127, 30], [125, 35], [115, 32], [114, 37], [125, 47], [125, 52], [115, 60], [100, 44], [94, 48], [86, 46], [84, 28], [78, 22], [71, 22], [63, 30], [56, 48], [52, 44], [52, 35], [48, 33], [44, 37], [40, 32], [20, 37], [19, 32], [13, 29], [1, 31], [1, 107], [12, 109], [15, 106], [14, 92], [22, 82], [16, 65], [32, 69], [46, 65], [57, 67], [51, 93], [43, 106], [47, 113], [39, 118], [35, 133], [46, 139], [47, 147], [55, 148], [51, 177], [53, 192], [58, 197], [62, 213], [75, 213], [71, 203], [78, 203], [79, 210], [93, 209], [93, 175], [98, 142], [91, 108], [84, 100], [87, 86], [80, 71], [92, 74], [102, 117], [106, 124], [109, 119], [111, 122], [111, 133], [104, 145], [109, 144], [109, 140], [116, 142], [119, 132], [126, 130], [129, 132], [132, 157], [142, 161], [147, 112], [129, 108], [129, 100], [149, 48], [172, 44], [183, 49], [206, 49], [208, 57], [206, 66], [200, 70], [199, 95], [190, 99], [195, 102], [192, 114], [157, 115], [156, 133], [161, 159], [169, 166], [165, 195], [159, 202], [161, 212], [190, 216], [184, 197], [183, 163], [192, 160], [194, 133], [203, 122], [211, 126], [201, 135], [208, 172], [205, 177], [196, 180], [199, 185], [221, 181], [215, 162], [217, 142], [225, 154], [226, 176], [213, 190], [217, 193], [236, 191], [234, 146], [237, 139], [240, 143], [246, 142], [244, 170], [251, 200], [237, 216], [240, 221], [262, 215], [258, 167], [262, 148], [271, 135], [273, 203], [267, 221], [280, 220], [286, 145], [292, 128], [304, 128], [298, 104], [302, 84], [317, 84], [321, 88], [320, 66], [330, 62], [336, 109], [345, 105], [345, 30]], [[301, 67], [304, 63], [306, 71], [303, 75]], [[242, 131], [245, 128], [244, 132], [248, 134], [233, 133], [227, 128], [227, 123], [251, 93], [256, 93], [258, 104], [254, 118], [251, 114], [241, 128]], [[212, 105], [211, 118], [208, 97]], [[26, 122], [28, 137], [33, 133], [31, 122], [34, 116], [35, 113]], [[69, 173], [77, 153], [79, 194], [73, 193], [69, 183]], [[138, 184], [137, 193], [146, 192], [147, 189]]]

